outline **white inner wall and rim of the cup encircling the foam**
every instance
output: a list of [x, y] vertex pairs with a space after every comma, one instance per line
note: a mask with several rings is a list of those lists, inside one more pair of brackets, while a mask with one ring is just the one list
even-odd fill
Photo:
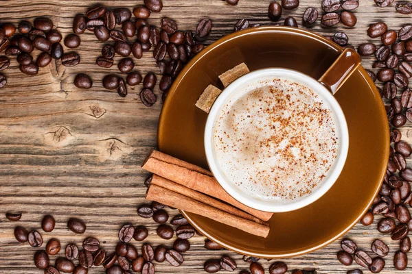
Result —
[[[230, 99], [236, 99], [250, 90], [255, 89], [259, 83], [276, 78], [288, 79], [297, 84], [307, 86], [316, 92], [317, 95], [323, 99], [323, 103], [332, 111], [332, 118], [336, 124], [336, 136], [339, 138], [336, 159], [330, 167], [326, 177], [323, 178], [320, 184], [312, 189], [312, 192], [309, 195], [293, 200], [258, 199], [258, 197], [253, 197], [252, 195], [248, 195], [248, 193], [240, 190], [240, 188], [238, 188], [227, 178], [225, 173], [220, 168], [218, 160], [216, 159], [214, 145], [214, 127], [220, 116], [222, 107], [226, 105]], [[222, 91], [214, 102], [214, 105], [212, 105], [205, 127], [205, 152], [207, 163], [209, 164], [209, 168], [219, 184], [229, 193], [229, 195], [241, 203], [244, 203], [244, 205], [267, 212], [288, 212], [297, 210], [299, 208], [303, 208], [304, 206], [308, 206], [310, 203], [313, 203], [324, 195], [341, 174], [347, 157], [348, 147], [349, 134], [347, 132], [345, 115], [343, 114], [341, 106], [333, 97], [332, 93], [316, 79], [290, 69], [261, 69], [236, 79], [236, 81], [231, 83], [227, 86], [227, 88], [225, 88], [225, 90]]]

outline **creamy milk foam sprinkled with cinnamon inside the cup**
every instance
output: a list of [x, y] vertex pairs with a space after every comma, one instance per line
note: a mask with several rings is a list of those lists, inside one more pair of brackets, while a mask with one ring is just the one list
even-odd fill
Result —
[[310, 194], [328, 174], [339, 145], [328, 106], [307, 86], [287, 79], [229, 99], [214, 130], [222, 172], [259, 199]]

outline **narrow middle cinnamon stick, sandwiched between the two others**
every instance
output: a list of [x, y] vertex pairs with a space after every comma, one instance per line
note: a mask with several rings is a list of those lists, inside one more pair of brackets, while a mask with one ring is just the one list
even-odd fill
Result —
[[182, 186], [181, 184], [172, 182], [168, 179], [160, 177], [159, 175], [153, 175], [152, 182], [150, 184], [155, 184], [157, 186], [161, 186], [162, 188], [172, 190], [181, 195], [185, 195], [186, 197], [192, 198], [196, 201], [200, 201], [201, 203], [205, 203], [209, 206], [213, 206], [214, 208], [218, 208], [219, 210], [225, 211], [236, 216], [240, 216], [243, 219], [254, 221], [262, 225], [268, 225], [268, 223], [266, 223], [265, 221], [262, 221], [256, 218], [255, 216], [252, 216], [251, 214], [243, 212], [242, 210], [238, 210], [238, 208], [234, 208], [233, 206], [230, 206], [227, 203], [222, 203], [217, 199], [204, 195], [203, 193], [198, 192], [196, 190], [192, 190], [190, 188]]

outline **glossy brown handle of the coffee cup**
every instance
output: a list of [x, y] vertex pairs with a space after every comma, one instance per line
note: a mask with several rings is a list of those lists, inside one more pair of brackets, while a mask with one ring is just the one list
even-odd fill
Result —
[[361, 56], [353, 49], [347, 48], [318, 81], [334, 95], [360, 64]]

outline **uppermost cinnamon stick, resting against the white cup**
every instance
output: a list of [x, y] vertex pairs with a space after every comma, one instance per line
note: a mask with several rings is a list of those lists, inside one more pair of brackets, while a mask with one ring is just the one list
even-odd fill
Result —
[[[179, 164], [174, 164], [177, 162]], [[153, 151], [144, 161], [142, 168], [192, 190], [225, 201], [263, 221], [268, 221], [272, 217], [273, 213], [271, 212], [264, 212], [244, 206], [243, 203], [231, 197], [214, 177], [201, 173], [199, 171], [201, 168], [198, 166], [194, 168], [193, 164], [176, 159], [160, 151]]]

